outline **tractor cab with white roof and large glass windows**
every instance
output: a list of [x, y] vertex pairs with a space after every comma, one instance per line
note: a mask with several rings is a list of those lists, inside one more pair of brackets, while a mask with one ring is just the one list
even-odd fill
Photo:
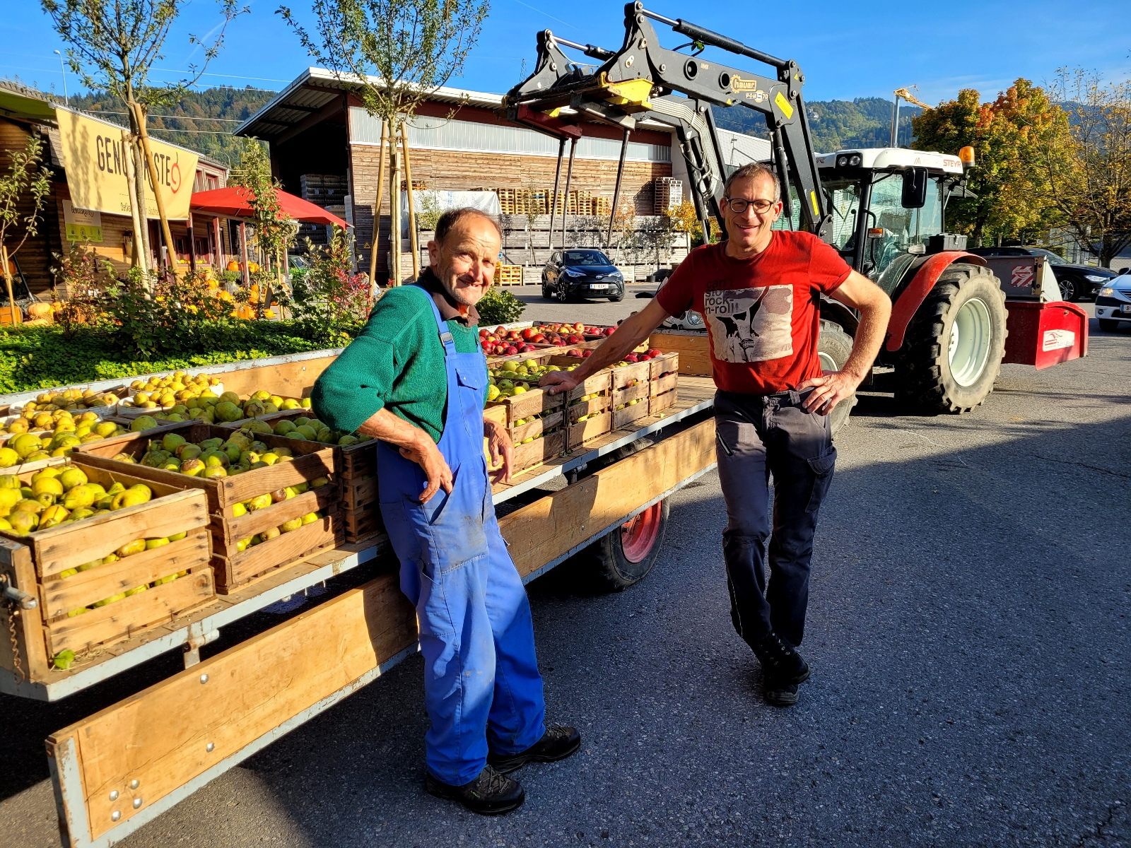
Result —
[[832, 245], [889, 294], [916, 257], [962, 250], [966, 237], [946, 232], [944, 211], [967, 194], [964, 158], [893, 147], [818, 155]]

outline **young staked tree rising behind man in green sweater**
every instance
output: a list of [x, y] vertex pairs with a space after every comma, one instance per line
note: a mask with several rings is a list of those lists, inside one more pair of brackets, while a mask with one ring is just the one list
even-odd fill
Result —
[[[356, 85], [365, 111], [389, 128], [394, 285], [402, 278], [398, 139], [420, 104], [463, 67], [489, 9], [489, 0], [313, 0], [313, 29], [300, 24], [288, 7], [278, 9], [314, 61], [339, 80]], [[380, 213], [378, 197], [371, 277], [375, 276]]]

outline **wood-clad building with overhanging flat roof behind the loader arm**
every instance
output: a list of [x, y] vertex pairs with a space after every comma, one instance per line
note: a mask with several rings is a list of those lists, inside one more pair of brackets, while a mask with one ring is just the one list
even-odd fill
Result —
[[[413, 183], [443, 191], [485, 189], [549, 197], [556, 141], [507, 121], [501, 107], [498, 94], [456, 88], [433, 93], [408, 124]], [[354, 226], [357, 263], [366, 268], [381, 127], [362, 106], [356, 84], [308, 68], [236, 135], [269, 142], [271, 167], [286, 191], [326, 206]], [[632, 133], [620, 197], [637, 215], [655, 214], [657, 180], [687, 181], [682, 159], [673, 168], [672, 150], [673, 136], [661, 124], [645, 124]], [[620, 130], [596, 123], [586, 128], [570, 181], [575, 197], [587, 202], [587, 209], [578, 209], [582, 214], [607, 215], [620, 152]], [[563, 165], [562, 182], [564, 176]], [[382, 194], [378, 231], [379, 256], [385, 258], [389, 256], [387, 179]], [[379, 276], [387, 270], [382, 259]]]

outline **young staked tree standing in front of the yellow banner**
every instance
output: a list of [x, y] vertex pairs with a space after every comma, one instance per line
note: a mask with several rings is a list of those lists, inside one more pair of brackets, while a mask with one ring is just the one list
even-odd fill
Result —
[[[202, 60], [189, 66], [185, 79], [173, 85], [150, 85], [149, 75], [164, 59], [165, 38], [189, 0], [40, 0], [43, 11], [51, 16], [55, 32], [68, 44], [67, 60], [74, 73], [94, 92], [107, 92], [118, 97], [129, 113], [130, 129], [137, 136], [138, 149], [148, 171], [149, 183], [157, 201], [161, 231], [169, 249], [170, 267], [176, 267], [173, 235], [165, 215], [165, 201], [158, 190], [156, 162], [149, 145], [147, 113], [152, 105], [166, 104], [189, 86], [196, 84], [205, 68], [219, 52], [224, 32], [247, 7], [236, 0], [217, 0], [222, 23], [210, 40], [189, 36], [189, 43], [201, 49]], [[216, 32], [216, 31], [214, 31]], [[131, 198], [145, 192], [135, 187]], [[139, 202], [139, 206], [143, 204]], [[147, 243], [143, 220], [140, 231], [133, 233], [133, 243]]]

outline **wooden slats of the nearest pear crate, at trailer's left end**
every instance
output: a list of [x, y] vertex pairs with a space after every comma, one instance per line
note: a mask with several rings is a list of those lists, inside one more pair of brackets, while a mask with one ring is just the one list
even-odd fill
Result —
[[[131, 474], [129, 466], [121, 470], [107, 469], [90, 465], [81, 457], [71, 465], [81, 468], [90, 483], [106, 488], [115, 482], [127, 487], [144, 483], [154, 497], [147, 503], [57, 525], [29, 536], [0, 531], [0, 537], [6, 539], [0, 545], [0, 571], [9, 571], [17, 587], [40, 602], [36, 611], [24, 615], [37, 620], [32, 629], [42, 633], [44, 649], [29, 651], [29, 655], [40, 656], [43, 661], [61, 650], [81, 655], [137, 635], [139, 631], [167, 624], [216, 594], [209, 565], [211, 545], [204, 492], [143, 478]], [[34, 471], [28, 471], [20, 478], [26, 482], [32, 476]], [[101, 560], [136, 539], [179, 533], [187, 535], [167, 545], [62, 577], [64, 571]], [[25, 569], [18, 568], [19, 561]], [[149, 586], [184, 571], [188, 574]], [[24, 581], [29, 582], [20, 585]], [[139, 586], [149, 588], [80, 615], [69, 615]], [[45, 674], [48, 669], [33, 670]]]

